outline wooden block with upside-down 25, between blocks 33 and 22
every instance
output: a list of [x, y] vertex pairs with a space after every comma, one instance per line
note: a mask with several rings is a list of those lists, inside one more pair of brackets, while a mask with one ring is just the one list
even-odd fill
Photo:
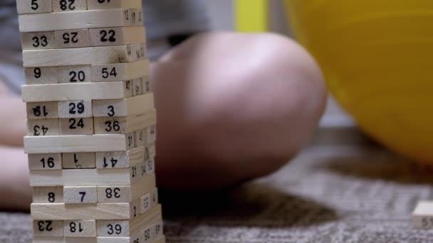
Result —
[[84, 48], [90, 46], [88, 29], [55, 31], [56, 48]]

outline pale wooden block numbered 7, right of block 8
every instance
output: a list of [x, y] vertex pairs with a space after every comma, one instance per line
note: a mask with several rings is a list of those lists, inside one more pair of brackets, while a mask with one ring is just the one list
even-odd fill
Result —
[[96, 203], [97, 190], [94, 186], [66, 186], [63, 188], [63, 200], [66, 204]]

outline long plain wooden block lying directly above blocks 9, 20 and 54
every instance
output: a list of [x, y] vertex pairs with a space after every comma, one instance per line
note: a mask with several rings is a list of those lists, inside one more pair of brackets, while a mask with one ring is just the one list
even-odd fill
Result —
[[90, 48], [23, 50], [24, 67], [131, 63], [139, 59], [135, 50], [140, 45], [112, 45]]

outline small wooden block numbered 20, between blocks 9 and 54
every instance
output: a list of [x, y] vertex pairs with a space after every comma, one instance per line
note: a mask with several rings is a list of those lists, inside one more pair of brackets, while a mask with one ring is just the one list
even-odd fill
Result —
[[58, 67], [59, 83], [92, 82], [92, 66], [76, 65]]

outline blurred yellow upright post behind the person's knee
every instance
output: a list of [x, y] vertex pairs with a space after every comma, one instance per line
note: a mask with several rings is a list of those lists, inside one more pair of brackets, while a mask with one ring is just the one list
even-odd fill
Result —
[[268, 31], [268, 0], [236, 0], [234, 2], [238, 31]]

